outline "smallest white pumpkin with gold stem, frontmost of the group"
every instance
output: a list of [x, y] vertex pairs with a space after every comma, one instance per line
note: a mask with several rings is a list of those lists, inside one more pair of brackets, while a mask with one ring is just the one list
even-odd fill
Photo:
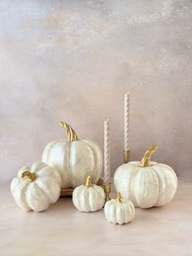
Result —
[[120, 192], [117, 192], [117, 198], [105, 204], [104, 213], [109, 223], [121, 225], [133, 220], [135, 209], [131, 201], [124, 201]]

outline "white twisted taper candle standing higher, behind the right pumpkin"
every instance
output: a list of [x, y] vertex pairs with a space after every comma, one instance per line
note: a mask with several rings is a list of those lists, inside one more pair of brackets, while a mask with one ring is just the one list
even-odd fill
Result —
[[129, 92], [124, 95], [124, 151], [130, 150], [129, 144]]

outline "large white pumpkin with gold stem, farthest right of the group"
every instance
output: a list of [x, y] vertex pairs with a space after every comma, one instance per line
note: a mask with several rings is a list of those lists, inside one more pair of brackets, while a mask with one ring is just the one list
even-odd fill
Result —
[[170, 166], [151, 160], [157, 149], [151, 147], [142, 161], [130, 161], [120, 166], [114, 175], [116, 191], [141, 208], [163, 206], [172, 201], [177, 191], [177, 176]]

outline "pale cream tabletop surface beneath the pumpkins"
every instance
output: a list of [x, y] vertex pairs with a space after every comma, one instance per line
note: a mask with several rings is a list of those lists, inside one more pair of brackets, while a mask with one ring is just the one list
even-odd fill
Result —
[[[192, 180], [179, 179], [173, 201], [136, 208], [133, 223], [112, 225], [103, 210], [80, 213], [61, 198], [42, 213], [24, 212], [0, 186], [0, 251], [8, 256], [191, 256]], [[114, 194], [114, 196], [116, 196]]]

